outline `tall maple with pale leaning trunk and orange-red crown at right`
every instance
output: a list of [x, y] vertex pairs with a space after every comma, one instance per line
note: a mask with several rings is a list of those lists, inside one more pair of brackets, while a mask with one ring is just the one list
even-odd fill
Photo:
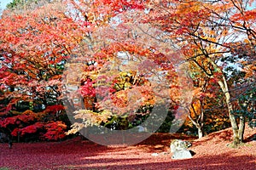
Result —
[[[234, 145], [242, 142], [244, 117], [240, 127], [236, 122], [224, 65], [220, 59], [226, 56], [245, 59], [248, 77], [253, 77], [255, 56], [255, 9], [249, 9], [253, 1], [161, 1], [150, 5], [148, 20], [154, 26], [168, 31], [177, 42], [189, 62], [195, 63], [209, 78], [214, 79], [224, 93]], [[224, 62], [224, 64], [227, 64]]]

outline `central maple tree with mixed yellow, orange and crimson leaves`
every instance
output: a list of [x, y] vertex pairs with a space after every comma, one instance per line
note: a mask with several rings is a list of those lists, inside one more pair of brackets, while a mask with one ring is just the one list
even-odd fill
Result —
[[[111, 117], [115, 119], [116, 116], [128, 115], [128, 119], [134, 118], [136, 117], [134, 115], [144, 114], [137, 112], [141, 107], [154, 105], [156, 108], [161, 100], [170, 98], [169, 86], [177, 85], [178, 82], [175, 81], [177, 72], [172, 65], [172, 59], [166, 55], [173, 53], [172, 47], [150, 37], [150, 34], [164, 37], [162, 31], [157, 32], [152, 29], [145, 32], [148, 29], [147, 25], [140, 23], [137, 26], [136, 16], [143, 13], [141, 2], [130, 1], [129, 3], [132, 4], [128, 4], [128, 1], [124, 1], [125, 4], [119, 1], [104, 2], [104, 4], [108, 3], [108, 8], [112, 8], [106, 15], [107, 19], [104, 17], [108, 8], [104, 8], [103, 11], [98, 9], [101, 8], [98, 5], [102, 5], [103, 1], [68, 2], [73, 5], [74, 10], [77, 9], [77, 15], [86, 16], [84, 20], [97, 26], [84, 37], [86, 41], [76, 51], [76, 55], [81, 55], [79, 59], [84, 60], [78, 62], [77, 58], [73, 59], [67, 65], [67, 72], [64, 72], [67, 86], [82, 85], [79, 89], [71, 90], [68, 98], [73, 99], [75, 96], [76, 100], [79, 100], [76, 105], [70, 105], [73, 107], [72, 110], [76, 110], [75, 108], [79, 110], [74, 112], [76, 114], [74, 117], [86, 120], [75, 122], [69, 133], [79, 132], [83, 127], [90, 125], [100, 125], [101, 122], [108, 124], [111, 122]], [[94, 11], [96, 7], [98, 7], [97, 11]], [[118, 11], [116, 11], [117, 7]], [[138, 11], [134, 13], [134, 9]], [[94, 11], [94, 18], [90, 17], [89, 20], [90, 10]], [[97, 18], [98, 12], [102, 13], [99, 18]], [[86, 58], [83, 55], [86, 55]], [[68, 74], [71, 72], [75, 72], [74, 74], [79, 78], [69, 77]], [[159, 80], [152, 81], [154, 77]], [[168, 77], [169, 80], [165, 82], [162, 80], [163, 77]], [[160, 91], [161, 88], [164, 90]], [[77, 94], [77, 90], [82, 96]], [[157, 90], [159, 91], [156, 92]], [[173, 90], [171, 94], [174, 91], [178, 94], [178, 90]], [[160, 92], [162, 94], [157, 95]], [[177, 97], [177, 94], [173, 97]], [[88, 107], [84, 108], [81, 101], [88, 102], [88, 99], [91, 99], [91, 105], [86, 103]], [[176, 100], [178, 99], [177, 97]]]

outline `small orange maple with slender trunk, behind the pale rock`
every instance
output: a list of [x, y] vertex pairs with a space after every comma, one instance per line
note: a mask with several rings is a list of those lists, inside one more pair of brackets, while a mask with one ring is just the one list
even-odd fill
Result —
[[183, 131], [188, 129], [189, 133], [195, 133], [196, 127], [198, 138], [201, 138], [207, 133], [229, 127], [227, 111], [223, 108], [223, 95], [219, 92], [216, 82], [207, 77], [194, 63], [190, 63], [189, 72], [195, 89]]

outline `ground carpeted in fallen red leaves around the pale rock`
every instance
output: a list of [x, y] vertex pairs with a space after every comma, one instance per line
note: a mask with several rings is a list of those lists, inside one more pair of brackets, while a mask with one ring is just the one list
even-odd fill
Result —
[[[247, 128], [246, 143], [239, 148], [230, 144], [231, 129], [211, 133], [203, 139], [156, 133], [132, 146], [102, 146], [80, 138], [62, 142], [0, 144], [0, 169], [256, 169], [256, 130]], [[172, 160], [172, 139], [192, 141], [195, 156]], [[158, 153], [159, 156], [152, 156]]]

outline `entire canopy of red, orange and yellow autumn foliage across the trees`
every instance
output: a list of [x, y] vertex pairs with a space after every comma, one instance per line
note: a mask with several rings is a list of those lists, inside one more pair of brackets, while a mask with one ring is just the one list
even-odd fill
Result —
[[176, 105], [195, 127], [229, 116], [242, 142], [255, 111], [253, 1], [40, 2], [0, 20], [4, 131], [58, 140]]

